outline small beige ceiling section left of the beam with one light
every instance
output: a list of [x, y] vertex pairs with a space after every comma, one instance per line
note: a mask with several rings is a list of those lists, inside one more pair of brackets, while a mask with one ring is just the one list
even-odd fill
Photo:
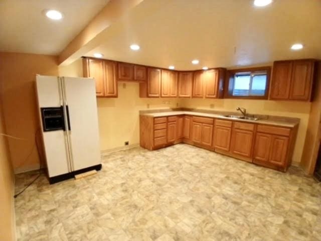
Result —
[[[0, 0], [0, 51], [59, 54], [109, 0]], [[63, 13], [61, 21], [42, 11]]]

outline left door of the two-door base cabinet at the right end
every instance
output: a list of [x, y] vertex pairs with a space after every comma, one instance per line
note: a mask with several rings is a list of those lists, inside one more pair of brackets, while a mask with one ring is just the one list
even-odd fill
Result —
[[256, 133], [253, 159], [268, 162], [271, 149], [272, 135]]

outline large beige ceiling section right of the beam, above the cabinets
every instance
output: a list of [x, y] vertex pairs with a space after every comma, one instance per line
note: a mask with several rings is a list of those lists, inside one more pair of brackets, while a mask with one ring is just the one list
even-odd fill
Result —
[[[321, 1], [144, 0], [114, 23], [86, 56], [179, 70], [321, 59]], [[292, 51], [294, 43], [303, 43]], [[131, 51], [137, 43], [141, 49]], [[200, 64], [191, 64], [192, 59]]]

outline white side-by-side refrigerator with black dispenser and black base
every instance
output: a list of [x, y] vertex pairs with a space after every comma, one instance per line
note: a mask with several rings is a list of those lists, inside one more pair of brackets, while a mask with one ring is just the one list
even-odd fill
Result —
[[95, 81], [36, 76], [49, 182], [100, 170]]

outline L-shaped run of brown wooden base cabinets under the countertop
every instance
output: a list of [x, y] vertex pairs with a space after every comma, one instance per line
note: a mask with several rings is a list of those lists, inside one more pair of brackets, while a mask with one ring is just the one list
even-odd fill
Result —
[[281, 127], [187, 114], [140, 115], [140, 146], [155, 150], [187, 143], [285, 172], [291, 164], [297, 125]]

